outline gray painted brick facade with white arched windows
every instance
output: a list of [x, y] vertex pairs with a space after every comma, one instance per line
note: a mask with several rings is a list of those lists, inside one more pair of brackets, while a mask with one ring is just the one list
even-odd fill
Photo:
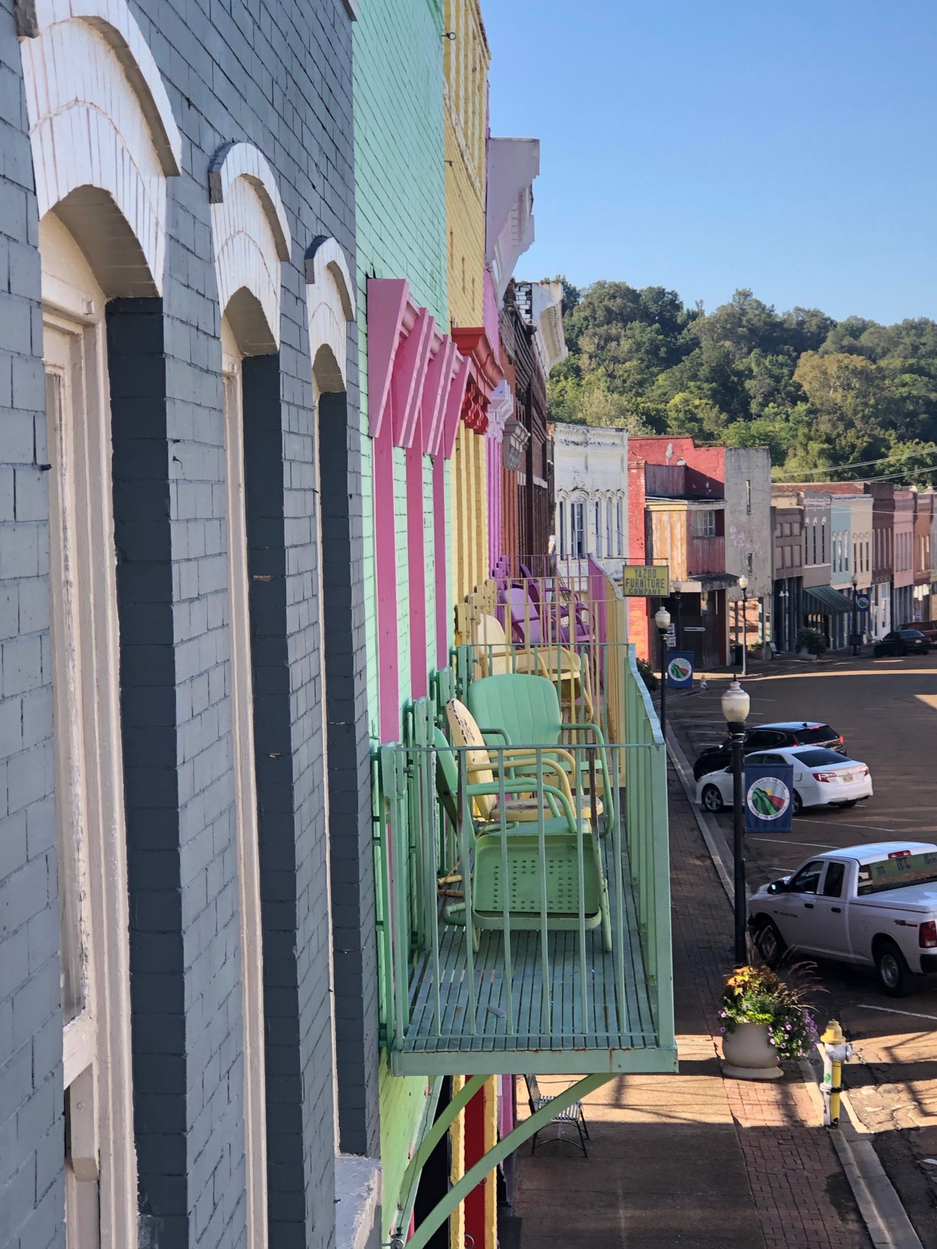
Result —
[[[357, 428], [357, 340], [347, 333], [342, 345], [347, 395], [329, 395], [321, 406], [321, 420], [331, 422], [326, 463], [306, 260], [315, 240], [336, 240], [354, 289], [351, 15], [342, 0], [127, 2], [181, 137], [179, 172], [165, 179], [161, 291], [121, 291], [112, 275], [100, 280], [139, 1244], [256, 1243], [245, 1147], [224, 309], [209, 195], [212, 157], [234, 141], [265, 159], [290, 237], [279, 275], [279, 351], [245, 352], [242, 362], [269, 1243], [325, 1249], [335, 1243], [334, 1027], [342, 1148], [377, 1148], [374, 1024], [367, 1010], [349, 1005], [375, 992], [372, 940], [361, 936], [372, 886], [364, 605], [355, 588], [364, 536], [360, 507], [350, 502], [361, 495], [360, 438], [336, 436], [336, 422]], [[65, 817], [61, 801], [56, 814], [50, 626], [55, 456], [46, 443], [41, 195], [20, 46], [54, 21], [61, 21], [54, 0], [37, 11], [26, 0], [0, 0], [0, 1245], [16, 1249], [65, 1245], [56, 854], [56, 821]], [[102, 21], [89, 19], [92, 35]], [[131, 36], [109, 36], [125, 69]], [[136, 89], [131, 70], [127, 77]], [[144, 99], [160, 102], [159, 94]], [[82, 239], [80, 200], [71, 192], [64, 202], [71, 206], [61, 219], [102, 272]], [[319, 531], [326, 467], [331, 563], [322, 561]], [[330, 893], [344, 984], [337, 1020]], [[76, 1123], [67, 1128], [74, 1140]], [[105, 1234], [101, 1243], [114, 1242]]]

